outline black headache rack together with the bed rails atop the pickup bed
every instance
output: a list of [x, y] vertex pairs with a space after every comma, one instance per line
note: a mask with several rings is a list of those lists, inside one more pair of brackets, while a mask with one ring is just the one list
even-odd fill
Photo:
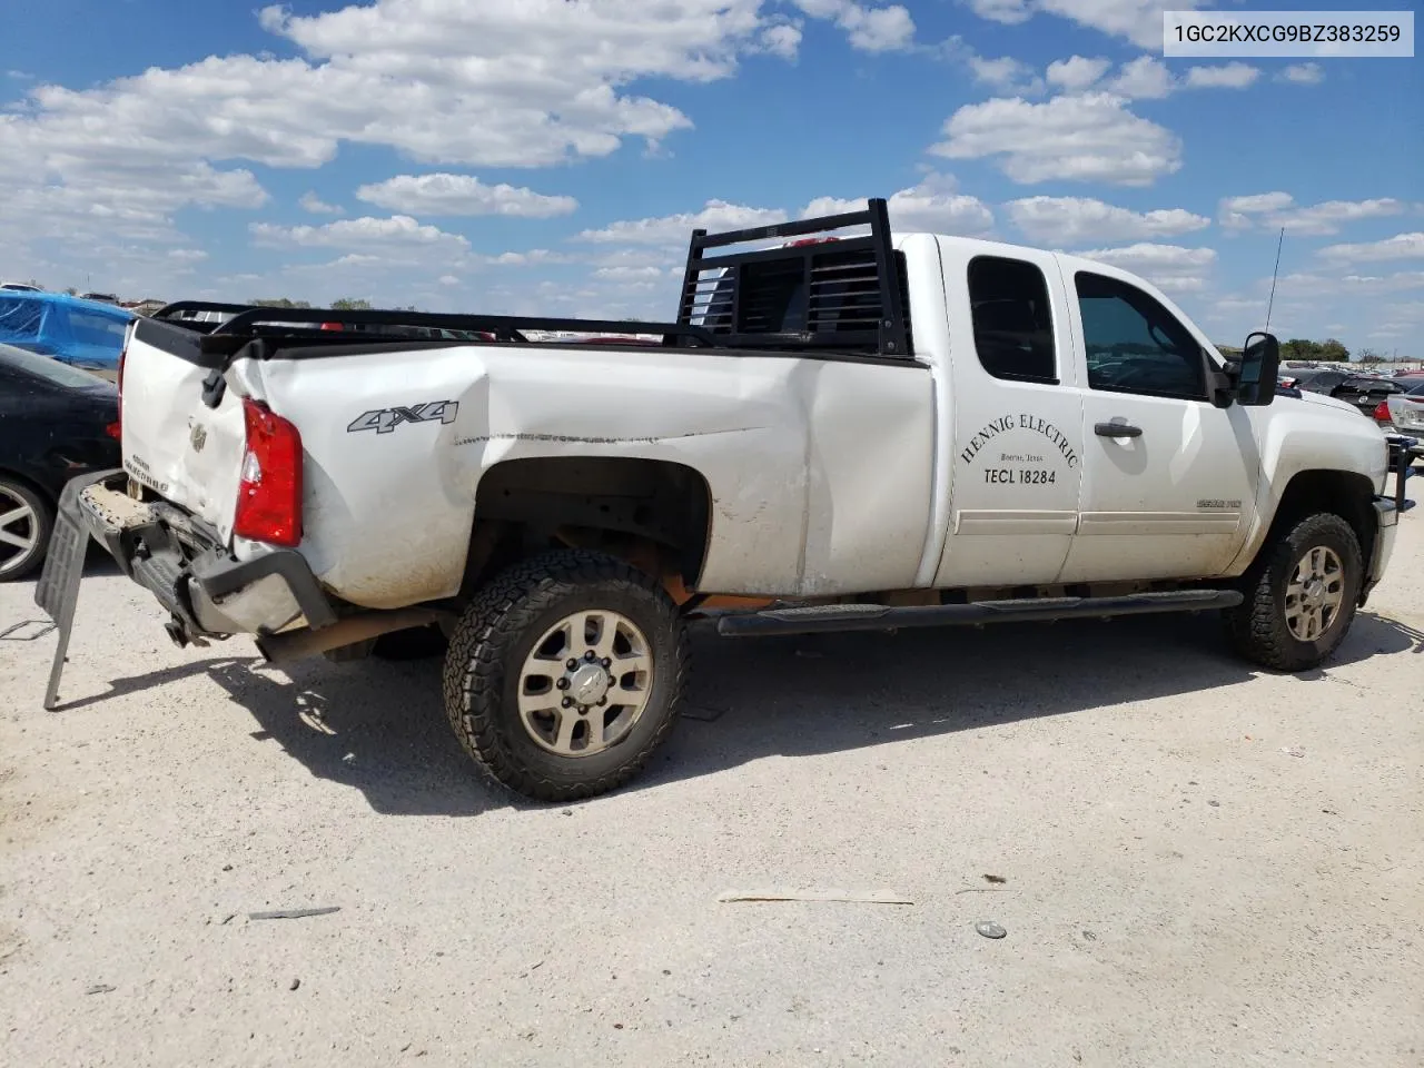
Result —
[[[869, 234], [832, 236], [847, 226]], [[807, 235], [819, 235], [807, 238]], [[806, 238], [773, 248], [719, 255], [708, 249], [773, 239]], [[534, 339], [531, 333], [595, 336], [601, 345], [637, 345], [641, 335], [666, 347], [824, 352], [909, 360], [913, 356], [904, 253], [890, 241], [883, 199], [866, 211], [816, 219], [708, 234], [692, 232], [678, 320], [554, 319], [543, 316], [463, 315], [333, 308], [273, 308], [209, 300], [179, 300], [150, 322], [181, 328], [204, 359], [232, 357], [248, 343], [253, 356], [276, 349], [319, 349], [399, 342], [580, 343]], [[144, 320], [141, 320], [142, 323]], [[641, 342], [646, 343], [646, 342]]]

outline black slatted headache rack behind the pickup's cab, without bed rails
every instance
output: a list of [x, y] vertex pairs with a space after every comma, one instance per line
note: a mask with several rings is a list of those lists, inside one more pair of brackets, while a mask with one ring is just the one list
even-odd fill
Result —
[[[847, 226], [870, 232], [829, 235]], [[800, 241], [708, 255], [779, 238]], [[729, 347], [910, 359], [909, 308], [904, 253], [891, 244], [886, 202], [871, 199], [866, 211], [843, 215], [726, 234], [693, 231], [678, 322], [701, 326]]]

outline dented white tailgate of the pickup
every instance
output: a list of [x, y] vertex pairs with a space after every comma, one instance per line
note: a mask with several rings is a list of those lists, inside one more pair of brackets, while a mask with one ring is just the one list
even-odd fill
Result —
[[124, 356], [124, 470], [231, 543], [246, 449], [242, 400], [226, 389], [216, 407], [204, 403], [215, 360], [198, 342], [189, 330], [138, 320]]

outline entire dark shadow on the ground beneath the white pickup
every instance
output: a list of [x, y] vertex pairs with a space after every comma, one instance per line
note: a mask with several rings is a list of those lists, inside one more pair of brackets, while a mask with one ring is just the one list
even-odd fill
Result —
[[[1256, 674], [1232, 656], [1210, 617], [758, 641], [719, 638], [699, 625], [693, 648], [684, 722], [629, 790], [773, 755], [833, 753], [1227, 689]], [[1296, 678], [1310, 688], [1334, 668], [1400, 654], [1424, 654], [1424, 634], [1363, 612], [1324, 669]], [[312, 775], [360, 790], [376, 812], [544, 807], [487, 786], [471, 766], [443, 715], [439, 659], [316, 658], [278, 669], [244, 658], [202, 666], [253, 716], [255, 742], [276, 742]]]

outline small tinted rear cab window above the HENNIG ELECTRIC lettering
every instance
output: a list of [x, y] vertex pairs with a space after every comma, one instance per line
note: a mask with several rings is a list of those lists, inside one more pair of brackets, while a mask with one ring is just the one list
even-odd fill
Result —
[[1022, 259], [974, 256], [968, 269], [974, 349], [995, 379], [1058, 384], [1044, 272]]

